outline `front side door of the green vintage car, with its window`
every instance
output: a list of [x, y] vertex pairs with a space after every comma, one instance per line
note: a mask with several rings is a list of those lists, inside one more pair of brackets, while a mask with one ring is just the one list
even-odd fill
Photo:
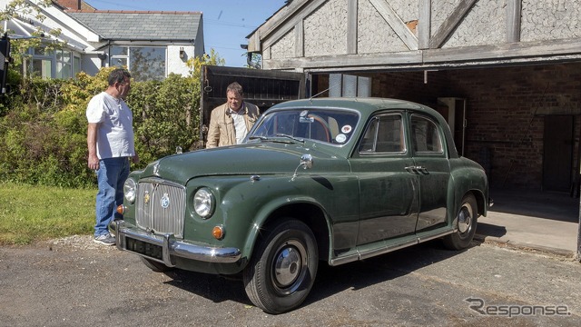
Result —
[[403, 113], [378, 114], [359, 140], [351, 169], [359, 177], [358, 245], [415, 232], [419, 176], [404, 137]]

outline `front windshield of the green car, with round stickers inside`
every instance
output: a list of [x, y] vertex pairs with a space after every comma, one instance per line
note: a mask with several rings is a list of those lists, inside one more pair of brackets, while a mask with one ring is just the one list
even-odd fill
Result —
[[284, 137], [288, 141], [349, 142], [359, 120], [356, 112], [339, 109], [293, 109], [267, 112], [249, 140]]

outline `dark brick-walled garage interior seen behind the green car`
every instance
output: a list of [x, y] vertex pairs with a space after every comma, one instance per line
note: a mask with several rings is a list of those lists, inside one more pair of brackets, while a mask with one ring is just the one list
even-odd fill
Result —
[[[371, 96], [446, 116], [458, 153], [485, 167], [492, 188], [578, 197], [580, 63], [347, 74], [366, 77]], [[330, 95], [330, 74], [312, 83], [312, 94]]]

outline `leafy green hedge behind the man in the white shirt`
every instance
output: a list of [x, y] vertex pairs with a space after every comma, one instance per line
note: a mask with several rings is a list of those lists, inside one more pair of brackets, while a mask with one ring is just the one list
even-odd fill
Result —
[[[133, 82], [126, 102], [133, 111], [140, 163], [132, 169], [199, 144], [200, 67], [221, 64], [212, 57], [192, 60], [192, 74], [170, 74], [163, 81]], [[74, 80], [15, 78], [0, 105], [0, 183], [94, 187], [87, 168], [85, 116], [89, 100], [103, 92], [113, 68]]]

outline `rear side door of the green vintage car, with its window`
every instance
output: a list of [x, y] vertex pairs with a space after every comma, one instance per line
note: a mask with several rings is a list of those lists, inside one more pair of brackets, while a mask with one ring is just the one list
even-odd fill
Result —
[[450, 168], [444, 134], [436, 122], [426, 114], [410, 114], [410, 152], [419, 176], [417, 232], [446, 224]]

